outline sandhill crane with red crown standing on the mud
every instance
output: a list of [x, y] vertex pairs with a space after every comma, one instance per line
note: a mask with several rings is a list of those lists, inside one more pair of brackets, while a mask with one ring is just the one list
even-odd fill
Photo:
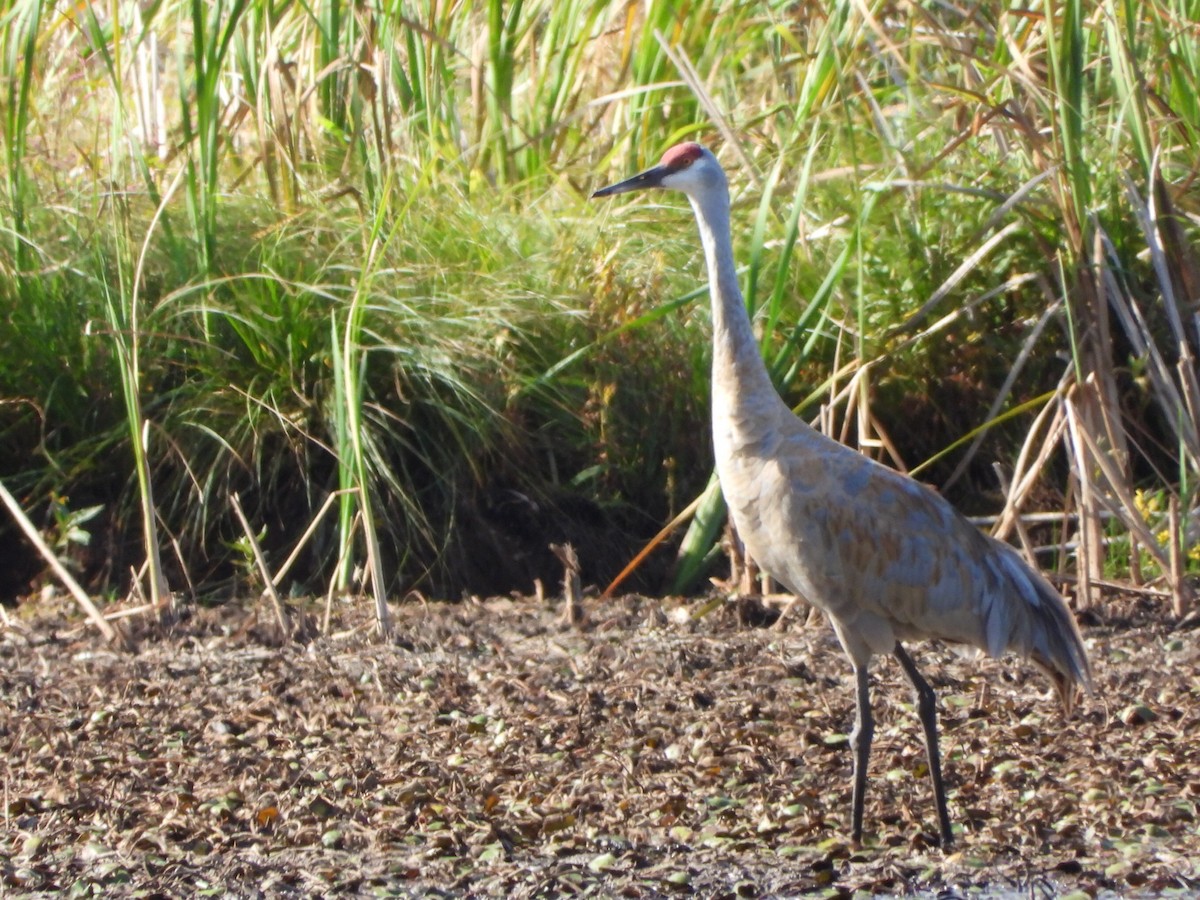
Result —
[[738, 534], [762, 569], [833, 623], [854, 668], [851, 834], [863, 835], [874, 724], [871, 656], [890, 653], [917, 697], [941, 842], [953, 842], [934, 690], [901, 641], [1013, 650], [1054, 682], [1066, 709], [1091, 690], [1087, 654], [1058, 593], [1007, 544], [906, 475], [811, 428], [767, 374], [738, 287], [730, 192], [716, 157], [678, 144], [652, 169], [593, 197], [660, 187], [691, 202], [713, 301], [713, 449]]

